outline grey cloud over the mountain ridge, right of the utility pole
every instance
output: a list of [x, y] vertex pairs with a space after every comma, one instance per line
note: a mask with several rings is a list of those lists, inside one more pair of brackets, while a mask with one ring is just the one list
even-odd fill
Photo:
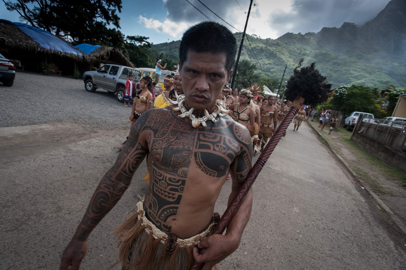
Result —
[[343, 22], [358, 26], [374, 19], [389, 0], [292, 0], [289, 12], [272, 13], [270, 27], [279, 36], [287, 33], [319, 32], [340, 27]]

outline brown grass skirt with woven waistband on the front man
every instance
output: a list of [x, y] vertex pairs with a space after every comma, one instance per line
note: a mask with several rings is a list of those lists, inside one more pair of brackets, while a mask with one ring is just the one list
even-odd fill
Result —
[[[193, 247], [209, 236], [219, 221], [213, 214], [207, 230], [188, 239], [160, 231], [144, 215], [143, 202], [137, 204], [138, 212], [117, 227], [119, 257], [125, 270], [188, 270], [192, 263]], [[217, 266], [214, 269], [218, 269]]]

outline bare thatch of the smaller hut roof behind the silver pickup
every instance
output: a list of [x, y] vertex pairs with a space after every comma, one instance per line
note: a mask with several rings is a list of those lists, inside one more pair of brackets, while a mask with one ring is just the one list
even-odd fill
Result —
[[92, 51], [88, 57], [89, 60], [94, 62], [103, 62], [104, 64], [116, 64], [135, 68], [134, 64], [130, 62], [121, 51], [107, 46], [100, 46]]

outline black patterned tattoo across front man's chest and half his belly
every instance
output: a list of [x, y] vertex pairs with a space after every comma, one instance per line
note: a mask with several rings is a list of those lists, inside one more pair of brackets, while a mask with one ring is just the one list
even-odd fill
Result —
[[233, 137], [244, 132], [239, 134], [234, 128], [230, 129], [234, 134], [227, 136], [221, 128], [195, 129], [190, 121], [179, 120], [173, 113], [154, 113], [149, 121], [150, 183], [144, 208], [160, 230], [171, 233], [168, 220], [177, 214], [191, 164], [209, 176], [225, 176], [241, 151], [241, 142]]

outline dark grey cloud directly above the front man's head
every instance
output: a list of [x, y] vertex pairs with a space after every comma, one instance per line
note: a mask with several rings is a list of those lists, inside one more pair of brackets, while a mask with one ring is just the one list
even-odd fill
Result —
[[[220, 22], [216, 15], [209, 11], [205, 6], [203, 6], [197, 0], [188, 0], [194, 6], [196, 6], [205, 15], [213, 19], [214, 21]], [[218, 16], [220, 16], [225, 21], [229, 21], [227, 13], [230, 9], [240, 9], [236, 1], [231, 0], [201, 0], [209, 9], [214, 11]], [[197, 23], [200, 21], [207, 20], [207, 18], [202, 15], [197, 9], [195, 9], [191, 4], [185, 0], [167, 0], [164, 3], [164, 8], [168, 10], [166, 19], [174, 22], [187, 22], [187, 23]]]

